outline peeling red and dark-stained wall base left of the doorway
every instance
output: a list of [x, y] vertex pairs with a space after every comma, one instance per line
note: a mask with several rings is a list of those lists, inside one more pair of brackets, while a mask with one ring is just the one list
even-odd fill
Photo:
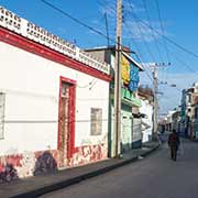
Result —
[[0, 183], [57, 169], [57, 151], [24, 152], [0, 157]]

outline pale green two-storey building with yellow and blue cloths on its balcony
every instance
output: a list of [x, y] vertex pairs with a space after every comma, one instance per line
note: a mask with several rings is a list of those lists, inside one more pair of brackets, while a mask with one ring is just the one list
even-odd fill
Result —
[[[111, 75], [114, 68], [114, 46], [97, 47], [86, 50], [91, 55], [97, 56], [111, 65]], [[121, 153], [128, 152], [133, 147], [140, 147], [142, 143], [141, 118], [139, 108], [141, 100], [138, 96], [139, 72], [142, 67], [130, 56], [129, 48], [122, 48], [121, 55]], [[110, 85], [110, 125], [109, 125], [109, 156], [114, 155], [116, 138], [113, 135], [114, 120], [114, 81]]]

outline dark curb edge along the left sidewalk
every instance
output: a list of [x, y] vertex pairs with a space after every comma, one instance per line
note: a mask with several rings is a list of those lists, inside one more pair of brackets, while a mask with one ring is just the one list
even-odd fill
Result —
[[[140, 156], [145, 157], [145, 156], [150, 155], [151, 153], [153, 153], [154, 151], [156, 151], [158, 147], [160, 147], [160, 144], [157, 146], [155, 146], [154, 148], [152, 148], [151, 151], [148, 151], [148, 152], [146, 152]], [[38, 197], [38, 196], [42, 196], [42, 195], [45, 195], [45, 194], [48, 194], [48, 193], [52, 193], [55, 190], [59, 190], [62, 188], [66, 188], [68, 186], [75, 185], [75, 184], [78, 184], [78, 183], [86, 180], [88, 178], [96, 177], [98, 175], [102, 175], [105, 173], [108, 173], [110, 170], [113, 170], [116, 168], [119, 168], [121, 166], [128, 165], [128, 164], [136, 162], [136, 161], [139, 161], [139, 156], [132, 157], [130, 160], [121, 161], [117, 164], [103, 167], [101, 169], [96, 169], [94, 172], [82, 174], [82, 175], [69, 178], [67, 180], [62, 180], [62, 182], [58, 182], [58, 183], [55, 183], [55, 184], [52, 184], [52, 185], [48, 185], [48, 186], [45, 186], [42, 188], [37, 188], [37, 189], [34, 189], [34, 190], [31, 190], [28, 193], [22, 193], [22, 194], [12, 196], [11, 198], [26, 198], [26, 197], [28, 198], [35, 198], [35, 197]]]

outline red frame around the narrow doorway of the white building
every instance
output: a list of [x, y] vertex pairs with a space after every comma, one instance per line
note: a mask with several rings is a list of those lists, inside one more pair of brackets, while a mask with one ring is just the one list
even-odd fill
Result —
[[61, 148], [61, 129], [59, 129], [59, 119], [61, 119], [61, 107], [62, 107], [62, 85], [63, 82], [69, 84], [69, 117], [68, 117], [68, 145], [67, 145], [67, 157], [70, 158], [75, 152], [75, 111], [76, 111], [76, 80], [59, 77], [59, 107], [58, 107], [58, 140], [57, 140], [57, 150]]

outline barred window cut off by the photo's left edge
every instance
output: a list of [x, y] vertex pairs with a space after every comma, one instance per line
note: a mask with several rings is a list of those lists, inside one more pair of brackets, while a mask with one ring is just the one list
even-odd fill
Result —
[[6, 94], [0, 92], [0, 139], [4, 138], [4, 102]]

